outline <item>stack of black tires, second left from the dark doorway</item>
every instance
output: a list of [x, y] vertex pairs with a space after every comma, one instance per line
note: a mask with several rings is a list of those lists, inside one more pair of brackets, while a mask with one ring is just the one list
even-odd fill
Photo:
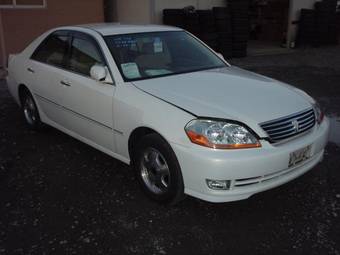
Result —
[[225, 58], [232, 57], [232, 28], [228, 8], [214, 7], [215, 28], [217, 34], [217, 48]]

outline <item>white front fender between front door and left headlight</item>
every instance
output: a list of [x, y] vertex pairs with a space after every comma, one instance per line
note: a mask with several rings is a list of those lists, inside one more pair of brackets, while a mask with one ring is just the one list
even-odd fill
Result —
[[113, 119], [117, 153], [130, 158], [128, 141], [138, 127], [155, 130], [167, 142], [190, 146], [184, 127], [195, 116], [149, 95], [131, 83], [117, 84]]

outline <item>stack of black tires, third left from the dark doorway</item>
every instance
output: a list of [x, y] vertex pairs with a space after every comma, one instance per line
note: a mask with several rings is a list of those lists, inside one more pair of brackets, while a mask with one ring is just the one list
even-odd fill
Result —
[[215, 18], [211, 10], [198, 10], [198, 19], [200, 26], [199, 38], [214, 50], [217, 49], [217, 34], [215, 28]]

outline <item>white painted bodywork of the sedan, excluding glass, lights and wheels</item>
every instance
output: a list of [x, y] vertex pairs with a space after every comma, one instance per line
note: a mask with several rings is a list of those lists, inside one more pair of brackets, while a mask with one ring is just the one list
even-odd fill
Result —
[[[92, 36], [105, 55], [114, 84], [31, 60], [38, 45], [56, 30], [81, 31]], [[262, 147], [256, 149], [210, 149], [191, 143], [184, 131], [188, 122], [204, 116], [243, 122], [265, 138], [267, 134], [259, 123], [312, 107], [314, 100], [304, 92], [236, 67], [125, 82], [102, 37], [179, 30], [165, 26], [94, 24], [48, 31], [23, 52], [10, 57], [9, 91], [20, 104], [18, 88], [24, 84], [33, 94], [44, 123], [127, 164], [132, 132], [139, 127], [153, 129], [174, 150], [185, 193], [211, 202], [248, 198], [296, 178], [322, 160], [329, 133], [327, 118], [311, 132], [282, 144], [261, 139]], [[72, 86], [62, 86], [61, 81]], [[289, 154], [307, 145], [312, 145], [311, 159], [288, 168]], [[234, 182], [272, 174], [279, 178], [245, 189], [216, 191], [205, 182], [206, 179]]]

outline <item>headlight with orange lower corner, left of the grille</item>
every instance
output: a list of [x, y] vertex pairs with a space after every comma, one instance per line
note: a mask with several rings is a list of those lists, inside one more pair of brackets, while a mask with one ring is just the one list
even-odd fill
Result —
[[191, 142], [214, 149], [261, 147], [246, 127], [228, 121], [192, 120], [186, 125], [185, 132]]

